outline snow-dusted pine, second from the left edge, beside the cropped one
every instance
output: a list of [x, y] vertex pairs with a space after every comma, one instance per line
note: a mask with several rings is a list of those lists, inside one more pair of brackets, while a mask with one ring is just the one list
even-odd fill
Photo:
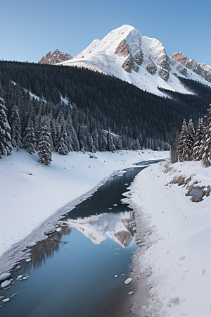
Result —
[[11, 125], [12, 146], [13, 148], [16, 149], [16, 151], [18, 151], [22, 145], [21, 143], [22, 135], [21, 135], [19, 110], [17, 106], [13, 106], [11, 110], [10, 125]]

